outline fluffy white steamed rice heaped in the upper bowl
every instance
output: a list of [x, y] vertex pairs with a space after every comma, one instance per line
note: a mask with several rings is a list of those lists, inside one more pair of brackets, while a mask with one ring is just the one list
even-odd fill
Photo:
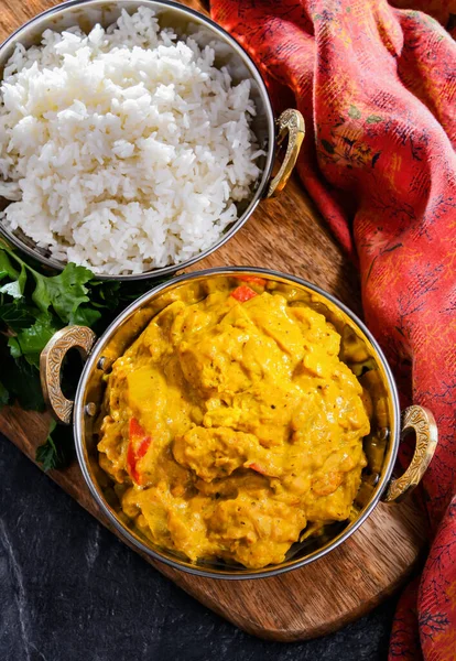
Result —
[[250, 83], [144, 7], [18, 45], [0, 87], [0, 215], [52, 257], [139, 273], [206, 250], [260, 175]]

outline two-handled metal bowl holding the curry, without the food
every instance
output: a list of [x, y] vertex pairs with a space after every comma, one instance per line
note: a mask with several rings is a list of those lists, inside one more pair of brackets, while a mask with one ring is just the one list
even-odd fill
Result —
[[[104, 376], [112, 362], [138, 337], [151, 318], [182, 294], [195, 301], [204, 297], [208, 285], [227, 279], [235, 284], [239, 275], [261, 275], [267, 286], [280, 291], [296, 302], [304, 302], [326, 316], [339, 332], [340, 358], [355, 371], [368, 389], [373, 407], [371, 433], [363, 440], [368, 465], [355, 501], [350, 520], [329, 525], [324, 535], [307, 538], [290, 550], [280, 565], [252, 571], [224, 563], [192, 564], [185, 557], [160, 549], [144, 538], [121, 511], [109, 478], [98, 465], [97, 435], [94, 422], [100, 412], [105, 389]], [[187, 300], [187, 299], [186, 299]], [[89, 358], [79, 380], [75, 402], [68, 401], [59, 386], [65, 354], [78, 347]], [[400, 500], [416, 486], [434, 454], [437, 430], [432, 413], [421, 407], [410, 407], [402, 416], [398, 392], [388, 362], [377, 342], [356, 315], [334, 296], [317, 286], [276, 271], [251, 268], [211, 269], [174, 278], [161, 284], [130, 305], [96, 340], [94, 333], [82, 326], [58, 332], [41, 357], [41, 376], [45, 398], [55, 416], [65, 423], [73, 419], [77, 457], [90, 491], [112, 525], [131, 544], [150, 556], [192, 574], [216, 578], [260, 578], [301, 567], [341, 544], [369, 517], [379, 500]], [[401, 434], [413, 429], [416, 449], [413, 459], [399, 479], [392, 479]]]

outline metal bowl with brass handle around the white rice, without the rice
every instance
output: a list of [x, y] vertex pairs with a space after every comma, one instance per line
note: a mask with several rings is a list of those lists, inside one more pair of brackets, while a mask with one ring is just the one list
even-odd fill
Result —
[[[23, 44], [25, 47], [40, 44], [41, 36], [47, 29], [61, 32], [72, 25], [79, 25], [82, 30], [88, 32], [96, 23], [107, 28], [119, 18], [122, 9], [132, 13], [142, 6], [155, 11], [162, 26], [172, 26], [180, 35], [192, 35], [200, 46], [210, 43], [216, 52], [215, 65], [217, 67], [226, 66], [235, 84], [250, 79], [251, 97], [257, 107], [257, 116], [253, 118], [251, 126], [260, 148], [265, 151], [267, 155], [261, 156], [258, 161], [262, 174], [250, 198], [238, 204], [238, 220], [228, 227], [211, 248], [185, 262], [144, 271], [139, 274], [120, 277], [97, 274], [101, 280], [162, 278], [189, 267], [220, 248], [248, 220], [262, 197], [273, 196], [284, 187], [296, 162], [304, 137], [304, 120], [297, 110], [285, 110], [275, 121], [265, 85], [246, 51], [210, 19], [167, 0], [118, 0], [116, 2], [109, 2], [108, 0], [73, 0], [48, 9], [22, 25], [0, 46], [0, 77], [18, 43]], [[289, 133], [286, 153], [278, 175], [271, 181], [276, 147], [286, 133]], [[3, 204], [3, 208], [4, 206]], [[65, 262], [51, 258], [48, 251], [39, 248], [22, 231], [11, 232], [0, 223], [0, 234], [10, 243], [43, 264], [58, 270], [65, 267]]]

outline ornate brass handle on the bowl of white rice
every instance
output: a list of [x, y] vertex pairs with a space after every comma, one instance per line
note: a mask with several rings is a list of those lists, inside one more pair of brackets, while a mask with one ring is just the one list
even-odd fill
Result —
[[304, 117], [298, 110], [293, 110], [292, 108], [284, 110], [279, 117], [276, 124], [279, 129], [278, 144], [283, 142], [286, 133], [289, 134], [289, 144], [286, 147], [283, 163], [278, 174], [269, 184], [267, 197], [275, 197], [275, 195], [285, 187], [286, 182], [293, 172], [293, 167], [295, 166], [301, 144], [305, 136]]

